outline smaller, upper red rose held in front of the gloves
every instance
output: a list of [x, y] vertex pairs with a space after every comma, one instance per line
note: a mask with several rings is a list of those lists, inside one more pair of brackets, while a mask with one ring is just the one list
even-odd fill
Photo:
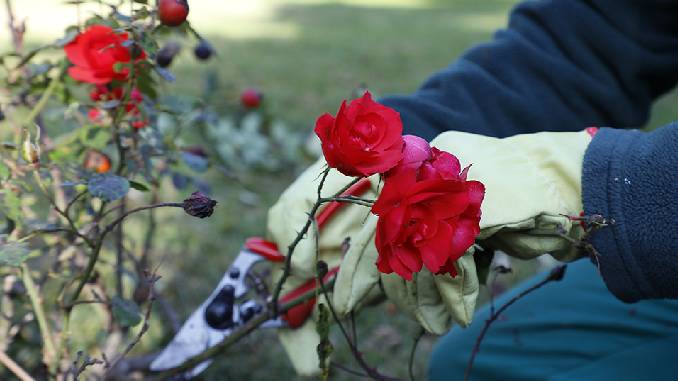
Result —
[[347, 176], [370, 176], [393, 168], [402, 158], [403, 124], [397, 111], [372, 100], [369, 92], [337, 116], [318, 118], [315, 133], [327, 164]]

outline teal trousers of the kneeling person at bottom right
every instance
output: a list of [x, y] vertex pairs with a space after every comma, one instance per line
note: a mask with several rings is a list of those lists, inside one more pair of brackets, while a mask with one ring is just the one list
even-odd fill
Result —
[[[544, 279], [540, 274], [497, 298], [501, 306]], [[678, 276], [678, 274], [676, 274]], [[486, 319], [443, 336], [429, 360], [429, 380], [462, 380]], [[678, 380], [678, 300], [626, 304], [580, 260], [508, 308], [490, 327], [471, 380]]]

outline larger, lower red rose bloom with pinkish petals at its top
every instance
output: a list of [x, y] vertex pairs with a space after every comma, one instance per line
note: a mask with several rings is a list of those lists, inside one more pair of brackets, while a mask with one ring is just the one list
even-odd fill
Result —
[[422, 265], [435, 274], [457, 275], [454, 262], [480, 233], [485, 187], [467, 181], [452, 154], [405, 136], [400, 164], [387, 172], [372, 212], [379, 216], [377, 268], [412, 280]]

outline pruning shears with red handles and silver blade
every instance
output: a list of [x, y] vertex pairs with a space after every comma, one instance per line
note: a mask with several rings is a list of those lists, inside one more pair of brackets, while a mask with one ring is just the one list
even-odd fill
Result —
[[[342, 197], [361, 196], [370, 188], [367, 179], [350, 187]], [[333, 201], [318, 213], [316, 218], [318, 229], [334, 216], [345, 203]], [[245, 241], [240, 253], [226, 270], [217, 287], [209, 297], [190, 315], [172, 341], [160, 352], [150, 365], [152, 371], [163, 371], [175, 368], [186, 360], [221, 343], [235, 329], [246, 324], [255, 316], [267, 313], [267, 301], [262, 297], [265, 293], [257, 278], [252, 276], [252, 269], [261, 262], [284, 262], [285, 256], [277, 245], [260, 237]], [[336, 276], [339, 267], [329, 269], [324, 278], [327, 283]], [[310, 279], [296, 289], [280, 297], [279, 303], [293, 300], [317, 287], [315, 279]], [[264, 287], [265, 288], [265, 287]], [[310, 317], [315, 306], [315, 299], [301, 303], [278, 317], [267, 320], [261, 328], [298, 328]], [[211, 360], [206, 360], [182, 374], [182, 378], [190, 379], [207, 369]]]

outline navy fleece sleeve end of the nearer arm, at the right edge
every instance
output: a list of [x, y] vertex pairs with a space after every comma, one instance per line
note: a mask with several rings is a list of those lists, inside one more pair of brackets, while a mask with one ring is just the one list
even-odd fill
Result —
[[614, 223], [592, 235], [619, 299], [678, 298], [678, 123], [601, 129], [584, 157], [584, 211]]

